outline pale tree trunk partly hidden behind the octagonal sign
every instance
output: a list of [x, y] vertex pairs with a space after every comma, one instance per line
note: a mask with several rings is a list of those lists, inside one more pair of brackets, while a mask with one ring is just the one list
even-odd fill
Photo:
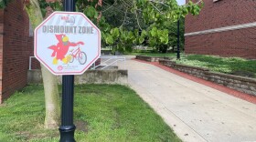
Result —
[[[43, 16], [39, 7], [38, 0], [29, 0], [26, 5], [26, 11], [33, 29], [37, 27], [42, 21]], [[44, 82], [45, 102], [46, 102], [46, 128], [59, 127], [60, 120], [60, 101], [59, 91], [57, 85], [57, 77], [51, 74], [48, 69], [41, 65], [41, 71]]]

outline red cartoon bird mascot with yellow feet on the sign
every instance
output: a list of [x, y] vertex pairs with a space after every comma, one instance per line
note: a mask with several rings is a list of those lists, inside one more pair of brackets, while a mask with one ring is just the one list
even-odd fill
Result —
[[61, 60], [64, 64], [68, 64], [72, 56], [66, 56], [69, 51], [70, 46], [84, 45], [83, 42], [71, 43], [69, 42], [69, 37], [67, 35], [55, 35], [59, 43], [56, 46], [49, 46], [49, 49], [53, 50], [51, 56], [54, 56], [52, 64], [57, 65], [58, 60]]

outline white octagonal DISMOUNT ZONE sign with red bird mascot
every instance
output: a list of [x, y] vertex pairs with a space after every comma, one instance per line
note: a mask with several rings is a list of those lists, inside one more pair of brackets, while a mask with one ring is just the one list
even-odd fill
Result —
[[81, 75], [101, 56], [101, 31], [82, 13], [54, 12], [34, 38], [35, 56], [54, 75]]

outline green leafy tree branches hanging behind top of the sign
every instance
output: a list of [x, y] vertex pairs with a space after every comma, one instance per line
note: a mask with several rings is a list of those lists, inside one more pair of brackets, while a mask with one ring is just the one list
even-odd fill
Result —
[[[63, 6], [59, 2], [38, 1], [43, 16], [47, 6], [55, 11]], [[76, 8], [101, 29], [101, 45], [120, 51], [132, 51], [133, 46], [140, 44], [155, 46], [157, 50], [173, 46], [176, 39], [168, 25], [175, 25], [187, 14], [198, 15], [203, 6], [203, 2], [194, 4], [192, 1], [179, 6], [176, 0], [104, 0], [102, 5], [98, 4], [99, 0], [77, 0]]]

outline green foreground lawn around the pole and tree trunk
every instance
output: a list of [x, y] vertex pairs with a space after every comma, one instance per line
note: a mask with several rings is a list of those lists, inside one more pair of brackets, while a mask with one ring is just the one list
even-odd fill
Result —
[[[43, 86], [31, 85], [0, 106], [1, 142], [59, 141], [46, 130]], [[74, 122], [78, 142], [180, 141], [161, 117], [127, 86], [75, 86]]]

